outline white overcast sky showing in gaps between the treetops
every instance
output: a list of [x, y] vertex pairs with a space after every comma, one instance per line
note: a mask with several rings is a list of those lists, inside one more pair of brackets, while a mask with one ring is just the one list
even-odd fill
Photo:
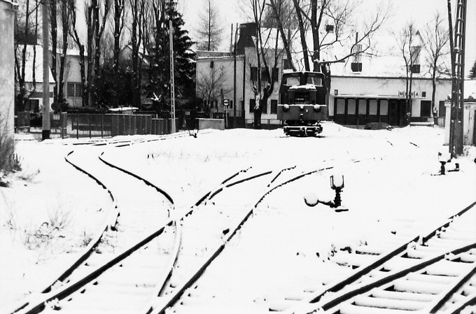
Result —
[[[398, 31], [405, 26], [405, 23], [413, 20], [417, 27], [424, 27], [431, 22], [437, 11], [447, 17], [447, 0], [360, 0], [361, 12], [374, 9], [378, 3], [383, 2], [386, 6], [391, 6], [391, 16], [386, 22], [386, 31]], [[221, 15], [223, 27], [222, 48], [226, 50], [230, 45], [230, 25], [248, 22], [239, 6], [239, 0], [214, 0], [216, 8]], [[455, 0], [452, 1], [456, 3]], [[204, 12], [207, 0], [179, 0], [183, 19], [186, 22], [186, 29], [193, 36], [194, 29], [199, 27], [198, 13]], [[468, 1], [467, 27], [466, 27], [466, 62], [472, 64], [476, 60], [476, 0]], [[468, 72], [470, 66], [466, 65]]]

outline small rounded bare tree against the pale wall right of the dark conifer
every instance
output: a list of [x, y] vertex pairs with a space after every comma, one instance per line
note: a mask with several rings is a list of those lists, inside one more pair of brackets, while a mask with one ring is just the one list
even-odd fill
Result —
[[223, 66], [209, 69], [208, 73], [200, 73], [197, 77], [197, 96], [203, 100], [202, 108], [207, 115], [210, 114], [214, 102], [220, 99], [221, 93], [225, 94], [232, 90], [225, 87], [227, 80]]

